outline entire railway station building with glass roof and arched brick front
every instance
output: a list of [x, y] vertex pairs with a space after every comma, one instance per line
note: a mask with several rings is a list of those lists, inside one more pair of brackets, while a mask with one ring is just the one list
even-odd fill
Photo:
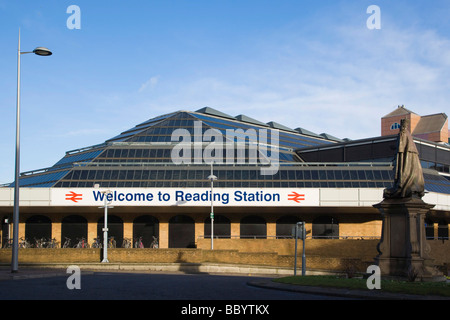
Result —
[[[315, 239], [377, 239], [373, 205], [394, 180], [399, 119], [411, 128], [424, 170], [429, 239], [448, 240], [450, 145], [445, 114], [403, 106], [379, 137], [317, 134], [205, 107], [146, 120], [105, 142], [67, 151], [20, 175], [19, 237], [59, 243], [109, 235], [149, 247], [195, 248], [199, 239], [282, 239], [299, 221]], [[431, 120], [430, 120], [431, 119]], [[417, 134], [414, 134], [414, 131]], [[437, 133], [439, 131], [439, 133]], [[216, 179], [212, 180], [211, 176]], [[14, 182], [0, 187], [1, 241], [12, 237]]]

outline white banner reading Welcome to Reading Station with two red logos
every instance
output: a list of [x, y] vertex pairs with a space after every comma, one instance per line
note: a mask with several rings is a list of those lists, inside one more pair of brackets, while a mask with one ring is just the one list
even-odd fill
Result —
[[318, 206], [319, 189], [53, 188], [52, 206]]

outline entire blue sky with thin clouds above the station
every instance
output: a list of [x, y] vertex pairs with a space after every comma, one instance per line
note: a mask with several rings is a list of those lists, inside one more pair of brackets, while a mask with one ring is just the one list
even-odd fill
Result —
[[53, 51], [22, 55], [24, 172], [204, 106], [351, 139], [378, 136], [400, 104], [448, 115], [449, 17], [447, 0], [0, 0], [0, 184], [14, 179], [19, 28], [22, 51]]

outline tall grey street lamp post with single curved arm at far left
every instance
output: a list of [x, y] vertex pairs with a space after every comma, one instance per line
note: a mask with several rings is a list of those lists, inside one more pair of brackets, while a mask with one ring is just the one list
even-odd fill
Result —
[[52, 52], [44, 47], [33, 51], [20, 51], [20, 29], [17, 50], [17, 104], [16, 104], [16, 164], [14, 176], [14, 209], [13, 209], [13, 247], [11, 255], [11, 272], [19, 271], [19, 175], [20, 175], [20, 56], [34, 53], [38, 56], [51, 56]]

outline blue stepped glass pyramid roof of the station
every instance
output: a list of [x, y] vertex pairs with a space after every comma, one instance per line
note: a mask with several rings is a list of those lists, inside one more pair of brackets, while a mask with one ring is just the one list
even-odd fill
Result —
[[[247, 116], [232, 117], [212, 108], [196, 112], [178, 111], [161, 115], [92, 147], [68, 151], [50, 168], [24, 173], [20, 185], [26, 187], [92, 187], [100, 183], [105, 187], [205, 187], [209, 166], [174, 165], [171, 151], [178, 141], [172, 141], [176, 129], [185, 129], [194, 135], [201, 123], [201, 133], [216, 129], [230, 139], [227, 130], [235, 133], [237, 141], [246, 138], [247, 148], [236, 155], [242, 165], [215, 165], [220, 187], [302, 187], [302, 188], [385, 188], [392, 184], [391, 163], [378, 164], [305, 164], [295, 149], [334, 144], [316, 134], [301, 134], [276, 122], [262, 123]], [[250, 166], [252, 135], [280, 128], [279, 172], [273, 176], [260, 174], [260, 166]], [[240, 131], [238, 130], [240, 129]], [[267, 132], [267, 131], [266, 131]], [[303, 132], [308, 132], [304, 130]], [[271, 142], [267, 132], [267, 143]], [[236, 139], [236, 140], [235, 140]], [[243, 157], [243, 158], [239, 158]], [[242, 160], [242, 162], [238, 162]], [[424, 175], [426, 189], [450, 194], [450, 181], [437, 175]], [[10, 184], [13, 187], [14, 183]]]

